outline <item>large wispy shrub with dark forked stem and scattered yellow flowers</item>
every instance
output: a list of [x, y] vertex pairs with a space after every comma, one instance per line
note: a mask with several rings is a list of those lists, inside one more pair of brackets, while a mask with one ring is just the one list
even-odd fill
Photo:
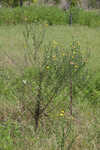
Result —
[[10, 92], [20, 103], [22, 120], [29, 115], [35, 130], [41, 122], [47, 123], [44, 120], [52, 116], [57, 105], [65, 105], [65, 94], [72, 115], [73, 98], [82, 92], [88, 75], [87, 58], [82, 55], [79, 41], [74, 40], [70, 48], [55, 40], [46, 45], [45, 26], [48, 24], [26, 24], [25, 62], [8, 88], [8, 95]]

